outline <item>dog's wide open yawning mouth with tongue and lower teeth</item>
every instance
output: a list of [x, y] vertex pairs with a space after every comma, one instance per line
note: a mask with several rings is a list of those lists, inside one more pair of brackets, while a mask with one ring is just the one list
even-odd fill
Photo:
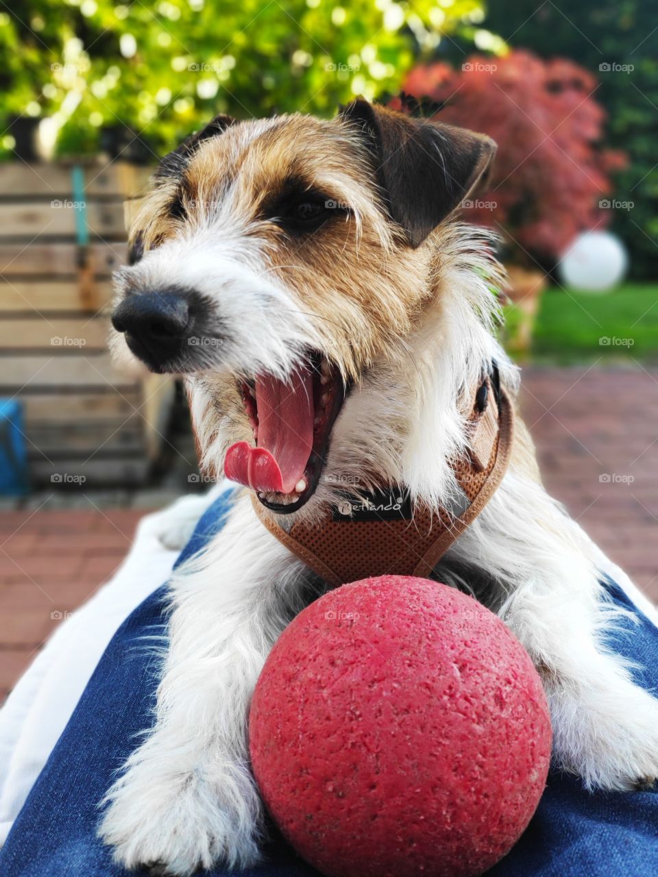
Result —
[[240, 384], [254, 445], [239, 441], [226, 452], [224, 473], [256, 491], [268, 509], [300, 509], [315, 489], [333, 424], [347, 393], [340, 372], [318, 353], [287, 381], [271, 374]]

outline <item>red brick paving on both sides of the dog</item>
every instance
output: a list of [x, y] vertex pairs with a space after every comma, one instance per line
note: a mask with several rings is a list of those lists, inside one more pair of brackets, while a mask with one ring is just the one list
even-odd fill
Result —
[[[547, 488], [658, 601], [658, 369], [529, 368], [524, 387]], [[118, 567], [146, 512], [0, 513], [0, 699]]]

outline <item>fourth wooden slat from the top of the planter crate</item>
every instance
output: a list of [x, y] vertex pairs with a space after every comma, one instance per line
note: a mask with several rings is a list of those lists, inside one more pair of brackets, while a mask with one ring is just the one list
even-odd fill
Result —
[[110, 281], [95, 284], [92, 300], [85, 301], [77, 282], [20, 281], [0, 283], [0, 314], [4, 310], [40, 313], [56, 310], [96, 311], [111, 302]]

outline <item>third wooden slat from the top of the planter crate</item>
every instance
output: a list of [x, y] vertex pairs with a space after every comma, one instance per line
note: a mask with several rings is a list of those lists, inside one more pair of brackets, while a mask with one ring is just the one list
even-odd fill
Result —
[[[2, 167], [0, 165], [0, 167]], [[127, 245], [124, 241], [113, 244], [91, 244], [89, 261], [97, 277], [109, 277], [112, 271], [125, 264]], [[0, 275], [9, 280], [25, 275], [59, 275], [75, 277], [78, 272], [78, 247], [75, 244], [0, 243]]]

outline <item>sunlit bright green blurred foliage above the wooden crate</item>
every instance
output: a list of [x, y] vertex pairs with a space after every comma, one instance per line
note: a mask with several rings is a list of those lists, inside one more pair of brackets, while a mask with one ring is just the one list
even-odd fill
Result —
[[481, 0], [14, 2], [0, 6], [0, 124], [44, 119], [57, 153], [93, 152], [127, 125], [161, 152], [217, 112], [332, 116], [354, 94], [397, 90], [418, 56], [482, 18]]

